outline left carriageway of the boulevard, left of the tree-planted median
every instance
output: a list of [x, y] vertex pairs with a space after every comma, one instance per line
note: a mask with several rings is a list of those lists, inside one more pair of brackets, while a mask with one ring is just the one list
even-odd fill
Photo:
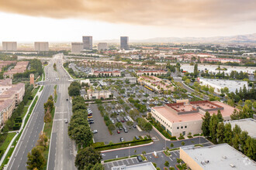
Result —
[[[45, 67], [46, 77], [53, 79], [57, 74], [54, 73], [53, 64], [50, 63]], [[47, 102], [48, 97], [54, 93], [54, 84], [48, 84], [43, 88], [42, 94], [38, 99], [35, 109], [31, 114], [26, 128], [19, 138], [16, 150], [12, 153], [7, 169], [26, 169], [27, 155], [29, 151], [36, 145], [40, 131], [43, 131], [43, 104]]]

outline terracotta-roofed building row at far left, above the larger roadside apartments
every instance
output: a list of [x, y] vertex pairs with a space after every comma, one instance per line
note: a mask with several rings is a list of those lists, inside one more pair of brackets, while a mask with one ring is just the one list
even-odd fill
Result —
[[4, 73], [4, 79], [13, 78], [13, 75], [16, 73], [24, 73], [26, 71], [27, 66], [29, 65], [29, 61], [19, 61], [16, 66], [12, 70], [6, 71]]

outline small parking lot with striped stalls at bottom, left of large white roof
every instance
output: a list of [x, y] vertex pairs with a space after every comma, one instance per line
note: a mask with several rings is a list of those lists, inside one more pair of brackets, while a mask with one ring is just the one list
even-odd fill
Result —
[[[147, 161], [144, 162], [154, 162], [157, 164], [157, 167], [164, 169], [164, 162], [168, 161], [169, 166], [175, 167], [177, 165], [177, 158], [179, 158], [179, 151], [171, 151], [171, 156], [166, 156], [162, 151], [157, 152], [157, 157], [154, 157], [153, 153], [148, 153], [146, 155]], [[120, 166], [120, 165], [136, 165], [136, 164], [141, 164], [144, 162], [139, 162], [137, 157], [134, 158], [126, 158], [123, 160], [119, 161], [114, 161], [114, 162], [107, 162], [104, 163], [104, 168], [106, 170], [111, 170], [113, 166]], [[178, 169], [175, 167], [175, 169]]]

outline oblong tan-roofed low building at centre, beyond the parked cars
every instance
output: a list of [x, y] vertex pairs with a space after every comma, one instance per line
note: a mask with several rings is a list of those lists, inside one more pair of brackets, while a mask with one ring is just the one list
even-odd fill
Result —
[[174, 87], [172, 87], [171, 84], [164, 82], [156, 76], [140, 76], [137, 82], [148, 87], [148, 89], [155, 90], [157, 92], [162, 92], [164, 90], [174, 90]]

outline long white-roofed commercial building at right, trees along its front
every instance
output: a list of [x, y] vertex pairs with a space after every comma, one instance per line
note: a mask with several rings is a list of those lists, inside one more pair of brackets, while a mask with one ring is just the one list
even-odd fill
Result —
[[205, 79], [202, 77], [198, 78], [200, 85], [210, 86], [214, 88], [215, 93], [221, 93], [221, 89], [227, 87], [230, 92], [235, 92], [240, 90], [240, 88], [246, 87], [248, 89], [247, 81], [240, 80], [220, 80], [220, 79]]

